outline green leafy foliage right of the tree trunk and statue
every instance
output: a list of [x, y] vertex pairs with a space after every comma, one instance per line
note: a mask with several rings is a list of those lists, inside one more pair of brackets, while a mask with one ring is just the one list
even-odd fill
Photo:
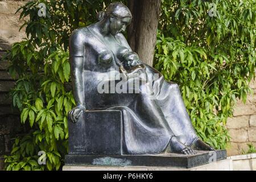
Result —
[[226, 120], [255, 75], [256, 2], [211, 2], [163, 1], [155, 67], [180, 85], [199, 136], [225, 148]]

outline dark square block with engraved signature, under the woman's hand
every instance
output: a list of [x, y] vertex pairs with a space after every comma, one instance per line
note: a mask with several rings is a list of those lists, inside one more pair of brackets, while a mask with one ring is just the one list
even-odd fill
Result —
[[121, 155], [121, 130], [121, 111], [86, 111], [76, 123], [68, 122], [68, 153]]

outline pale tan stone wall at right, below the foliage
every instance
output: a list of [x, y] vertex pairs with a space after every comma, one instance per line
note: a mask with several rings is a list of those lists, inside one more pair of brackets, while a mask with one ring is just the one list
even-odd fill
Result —
[[246, 104], [237, 102], [233, 118], [229, 118], [226, 127], [231, 137], [228, 155], [238, 155], [247, 151], [248, 143], [256, 147], [256, 81], [251, 81], [250, 88], [254, 94], [247, 96]]

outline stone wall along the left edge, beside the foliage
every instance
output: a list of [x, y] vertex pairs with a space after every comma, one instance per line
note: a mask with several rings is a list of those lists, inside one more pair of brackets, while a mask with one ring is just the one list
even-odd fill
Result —
[[19, 20], [19, 13], [15, 14], [24, 3], [26, 1], [0, 1], [0, 170], [3, 169], [3, 155], [10, 154], [12, 139], [24, 133], [9, 94], [15, 79], [7, 73], [9, 63], [2, 60], [10, 45], [25, 37], [24, 28], [19, 32], [23, 20]]

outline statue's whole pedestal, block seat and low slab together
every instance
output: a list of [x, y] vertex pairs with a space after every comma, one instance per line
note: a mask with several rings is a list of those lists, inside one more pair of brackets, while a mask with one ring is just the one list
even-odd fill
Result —
[[86, 111], [69, 122], [66, 166], [122, 166], [194, 168], [226, 159], [226, 151], [197, 151], [195, 155], [125, 155], [122, 149], [122, 113], [118, 110]]

